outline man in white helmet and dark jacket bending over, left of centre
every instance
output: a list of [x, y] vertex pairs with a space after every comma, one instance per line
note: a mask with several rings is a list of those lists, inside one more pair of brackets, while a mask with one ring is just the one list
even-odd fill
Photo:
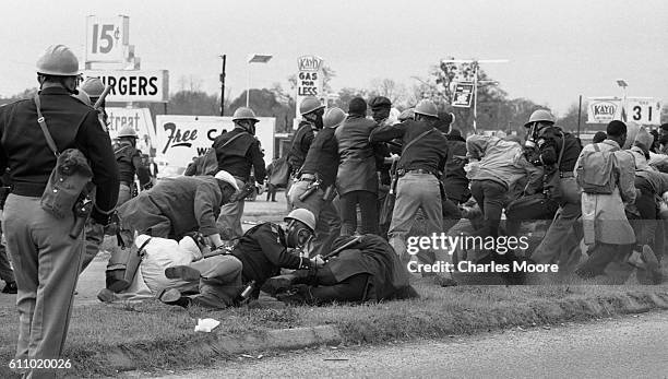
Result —
[[98, 294], [103, 301], [110, 292], [126, 289], [140, 264], [138, 250], [130, 248], [134, 232], [152, 237], [179, 240], [189, 233], [200, 232], [207, 242], [219, 248], [223, 240], [216, 227], [222, 205], [238, 191], [237, 180], [227, 171], [211, 176], [182, 176], [162, 179], [147, 191], [118, 209], [121, 240], [128, 249], [116, 249], [107, 265], [107, 287]]

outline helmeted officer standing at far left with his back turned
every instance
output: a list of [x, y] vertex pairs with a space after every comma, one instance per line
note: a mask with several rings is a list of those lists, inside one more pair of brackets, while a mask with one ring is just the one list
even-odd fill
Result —
[[[119, 185], [106, 127], [95, 109], [71, 96], [80, 80], [72, 50], [63, 45], [49, 47], [37, 61], [37, 80], [40, 91], [35, 98], [0, 108], [0, 173], [9, 167], [12, 182], [2, 228], [19, 287], [16, 359], [60, 358], [84, 244], [83, 234], [70, 236], [75, 224], [73, 211], [63, 210], [59, 218], [41, 205], [57, 158], [39, 121], [46, 123], [58, 152], [75, 147], [88, 159], [97, 187], [91, 216], [97, 223], [108, 223]], [[71, 156], [69, 153], [65, 156]], [[56, 376], [52, 369], [26, 374]]]

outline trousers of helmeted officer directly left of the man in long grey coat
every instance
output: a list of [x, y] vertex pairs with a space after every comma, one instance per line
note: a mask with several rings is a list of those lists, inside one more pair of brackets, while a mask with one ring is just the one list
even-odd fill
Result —
[[305, 193], [310, 182], [300, 180], [293, 185], [289, 202], [294, 208], [303, 208], [313, 213], [315, 216], [315, 238], [310, 256], [325, 254], [332, 250], [332, 244], [341, 235], [341, 218], [335, 201], [325, 201], [324, 191], [311, 193], [303, 201], [299, 197]]

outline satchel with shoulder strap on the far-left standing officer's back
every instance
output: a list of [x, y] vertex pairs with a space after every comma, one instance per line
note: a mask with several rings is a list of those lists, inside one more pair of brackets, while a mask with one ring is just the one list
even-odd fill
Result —
[[37, 122], [44, 132], [49, 149], [56, 155], [56, 167], [41, 196], [41, 209], [57, 218], [65, 218], [74, 212], [74, 204], [80, 199], [92, 196], [95, 186], [91, 182], [93, 170], [86, 156], [77, 149], [68, 149], [58, 152], [56, 142], [49, 133], [44, 116], [39, 95], [35, 95], [37, 106]]

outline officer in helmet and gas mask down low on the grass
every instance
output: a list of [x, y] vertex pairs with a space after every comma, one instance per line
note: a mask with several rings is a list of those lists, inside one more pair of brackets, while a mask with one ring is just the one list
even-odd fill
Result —
[[[246, 232], [230, 257], [217, 272], [215, 279], [191, 265], [176, 265], [165, 270], [170, 279], [206, 282], [216, 289], [217, 301], [201, 296], [188, 297], [171, 288], [162, 292], [158, 299], [165, 304], [189, 307], [198, 305], [207, 308], [223, 308], [241, 301], [257, 299], [264, 282], [276, 276], [281, 269], [315, 270], [322, 260], [300, 257], [293, 251], [302, 250], [313, 236], [315, 216], [305, 209], [296, 209], [285, 217], [284, 225], [264, 223]], [[225, 268], [227, 268], [225, 270]], [[242, 289], [241, 289], [242, 288]]]

